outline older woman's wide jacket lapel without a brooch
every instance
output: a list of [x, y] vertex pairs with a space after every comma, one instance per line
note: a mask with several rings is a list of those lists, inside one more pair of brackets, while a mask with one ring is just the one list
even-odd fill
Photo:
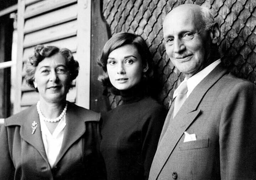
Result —
[[60, 161], [69, 147], [85, 133], [86, 117], [81, 119], [81, 116], [79, 116], [81, 112], [77, 112], [76, 110], [77, 109], [71, 103], [68, 104], [66, 111], [66, 127], [64, 131], [62, 147], [54, 165]]

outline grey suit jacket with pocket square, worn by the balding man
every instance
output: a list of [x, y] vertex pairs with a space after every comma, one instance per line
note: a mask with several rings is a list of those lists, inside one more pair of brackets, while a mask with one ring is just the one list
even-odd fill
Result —
[[[170, 108], [149, 180], [256, 178], [255, 93], [254, 84], [218, 65], [173, 119]], [[184, 131], [196, 134], [196, 141], [184, 142]]]

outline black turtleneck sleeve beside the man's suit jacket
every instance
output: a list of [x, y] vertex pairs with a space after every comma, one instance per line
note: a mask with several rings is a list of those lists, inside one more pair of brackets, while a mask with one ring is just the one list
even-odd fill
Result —
[[148, 115], [147, 123], [144, 125], [144, 141], [142, 146], [142, 162], [144, 162], [144, 179], [149, 177], [151, 163], [153, 161], [159, 137], [164, 125], [167, 110], [163, 106], [158, 106]]

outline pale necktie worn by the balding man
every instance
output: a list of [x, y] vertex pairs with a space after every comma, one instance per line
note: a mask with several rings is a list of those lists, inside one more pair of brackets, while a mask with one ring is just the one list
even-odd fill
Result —
[[174, 112], [172, 117], [175, 117], [175, 115], [187, 99], [187, 81], [182, 82], [182, 84], [178, 87], [177, 91], [177, 96], [174, 97]]

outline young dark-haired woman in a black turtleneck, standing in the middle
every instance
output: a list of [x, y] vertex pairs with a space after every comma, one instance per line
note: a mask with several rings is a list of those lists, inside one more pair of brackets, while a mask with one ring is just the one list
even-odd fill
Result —
[[100, 150], [108, 180], [148, 179], [166, 110], [150, 97], [153, 60], [138, 35], [117, 33], [103, 47], [103, 86], [123, 101], [102, 116]]

